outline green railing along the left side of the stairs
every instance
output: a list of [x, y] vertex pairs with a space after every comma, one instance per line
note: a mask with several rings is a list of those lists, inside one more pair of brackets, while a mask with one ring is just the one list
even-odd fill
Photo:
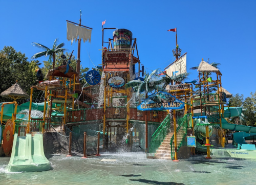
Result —
[[170, 128], [170, 114], [167, 114], [166, 118], [163, 120], [161, 125], [157, 128], [155, 133], [151, 137], [151, 143], [150, 143], [150, 153], [156, 153], [157, 149], [163, 142], [168, 129]]

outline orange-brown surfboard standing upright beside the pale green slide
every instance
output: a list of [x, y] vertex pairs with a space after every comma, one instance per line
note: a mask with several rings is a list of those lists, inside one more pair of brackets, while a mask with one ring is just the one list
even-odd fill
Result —
[[12, 149], [12, 143], [13, 143], [13, 131], [12, 131], [12, 121], [8, 120], [5, 125], [5, 131], [3, 133], [3, 149], [5, 152], [5, 155], [9, 155], [11, 149]]

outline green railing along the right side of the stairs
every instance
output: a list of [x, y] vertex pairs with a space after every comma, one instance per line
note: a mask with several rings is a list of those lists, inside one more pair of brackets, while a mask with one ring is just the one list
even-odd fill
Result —
[[[187, 135], [187, 127], [189, 126], [188, 121], [192, 119], [191, 113], [185, 114], [184, 117], [178, 120], [178, 128], [176, 129], [177, 135], [177, 152], [179, 151], [182, 143], [185, 141]], [[172, 159], [175, 156], [175, 143], [174, 143], [174, 135], [170, 139], [170, 155]]]

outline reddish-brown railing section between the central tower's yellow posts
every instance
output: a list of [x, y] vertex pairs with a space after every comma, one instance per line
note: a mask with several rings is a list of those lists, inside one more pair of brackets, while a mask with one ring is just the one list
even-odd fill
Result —
[[126, 119], [126, 107], [106, 107], [106, 119]]

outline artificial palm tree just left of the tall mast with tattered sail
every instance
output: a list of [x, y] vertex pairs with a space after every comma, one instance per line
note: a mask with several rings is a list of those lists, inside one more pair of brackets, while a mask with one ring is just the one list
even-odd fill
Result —
[[57, 42], [58, 42], [58, 38], [56, 38], [54, 40], [52, 49], [49, 49], [45, 45], [42, 45], [40, 43], [33, 42], [35, 47], [40, 48], [44, 51], [34, 54], [31, 57], [31, 59], [39, 58], [42, 56], [45, 56], [45, 57], [49, 56], [49, 60], [48, 60], [49, 62], [52, 62], [52, 58], [53, 58], [53, 68], [54, 68], [55, 67], [55, 54], [67, 51], [67, 49], [62, 48], [65, 45], [65, 43], [60, 43], [60, 44], [56, 45]]

